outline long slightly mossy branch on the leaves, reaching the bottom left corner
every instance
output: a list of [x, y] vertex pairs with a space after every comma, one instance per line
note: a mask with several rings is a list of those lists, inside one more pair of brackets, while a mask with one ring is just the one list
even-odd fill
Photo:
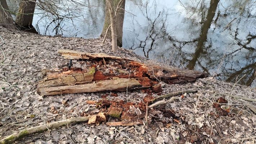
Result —
[[40, 125], [40, 126], [35, 126], [35, 127], [30, 127], [26, 130], [20, 130], [15, 132], [12, 135], [7, 136], [4, 139], [0, 140], [0, 144], [12, 144], [14, 141], [17, 141], [21, 138], [24, 138], [26, 136], [30, 136], [32, 134], [36, 133], [41, 133], [46, 130], [51, 130], [55, 129], [57, 127], [62, 127], [68, 125], [72, 125], [74, 123], [80, 123], [80, 122], [87, 122], [91, 116], [86, 116], [86, 117], [72, 117], [68, 118], [67, 120], [62, 120], [62, 121], [57, 121], [57, 122], [52, 122], [52, 123], [47, 123], [46, 125]]

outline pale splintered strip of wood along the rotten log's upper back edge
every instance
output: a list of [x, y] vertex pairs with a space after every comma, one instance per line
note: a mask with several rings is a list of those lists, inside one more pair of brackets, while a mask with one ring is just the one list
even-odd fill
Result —
[[104, 53], [85, 53], [85, 52], [75, 51], [75, 50], [60, 49], [60, 50], [58, 50], [58, 53], [61, 54], [61, 56], [63, 56], [64, 59], [111, 58], [111, 59], [127, 60], [127, 61], [132, 60], [132, 59], [128, 59], [128, 58], [114, 57], [114, 56], [110, 56], [110, 55], [107, 55], [107, 54], [104, 54]]

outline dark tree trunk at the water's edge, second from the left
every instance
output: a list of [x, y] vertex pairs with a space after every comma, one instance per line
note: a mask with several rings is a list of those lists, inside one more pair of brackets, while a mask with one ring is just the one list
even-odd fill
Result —
[[15, 20], [15, 24], [18, 27], [21, 27], [24, 30], [27, 29], [35, 29], [32, 26], [33, 21], [33, 13], [35, 11], [36, 2], [33, 0], [21, 0], [19, 3], [19, 11], [17, 15], [17, 19]]

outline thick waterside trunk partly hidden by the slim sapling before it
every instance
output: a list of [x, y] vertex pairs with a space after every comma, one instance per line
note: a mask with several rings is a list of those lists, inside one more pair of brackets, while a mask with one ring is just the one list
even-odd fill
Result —
[[[112, 1], [113, 8], [116, 9], [118, 3], [121, 0], [111, 0], [111, 1]], [[118, 9], [117, 15], [115, 16], [116, 32], [117, 32], [117, 46], [119, 46], [119, 47], [122, 47], [123, 19], [124, 19], [124, 16], [125, 16], [124, 9], [125, 9], [125, 0], [122, 0], [120, 8]], [[109, 15], [109, 7], [108, 7], [108, 4], [106, 3], [105, 22], [104, 22], [102, 33], [100, 35], [101, 37], [105, 36], [107, 28], [109, 27], [110, 24], [111, 24], [111, 21], [110, 21], [110, 15]], [[112, 39], [111, 31], [108, 31], [108, 33], [107, 33], [107, 38], [108, 39]]]

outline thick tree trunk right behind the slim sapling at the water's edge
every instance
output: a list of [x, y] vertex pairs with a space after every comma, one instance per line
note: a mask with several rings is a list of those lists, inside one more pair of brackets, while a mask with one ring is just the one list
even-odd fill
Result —
[[106, 37], [108, 39], [112, 39], [112, 26], [111, 31], [108, 31], [109, 26], [111, 25], [111, 14], [109, 12], [112, 9], [112, 16], [115, 20], [115, 26], [113, 30], [116, 31], [117, 37], [117, 46], [122, 47], [122, 37], [123, 37], [123, 19], [125, 16], [125, 0], [106, 0], [106, 11], [105, 11], [105, 22], [103, 26], [103, 30], [100, 36]]

